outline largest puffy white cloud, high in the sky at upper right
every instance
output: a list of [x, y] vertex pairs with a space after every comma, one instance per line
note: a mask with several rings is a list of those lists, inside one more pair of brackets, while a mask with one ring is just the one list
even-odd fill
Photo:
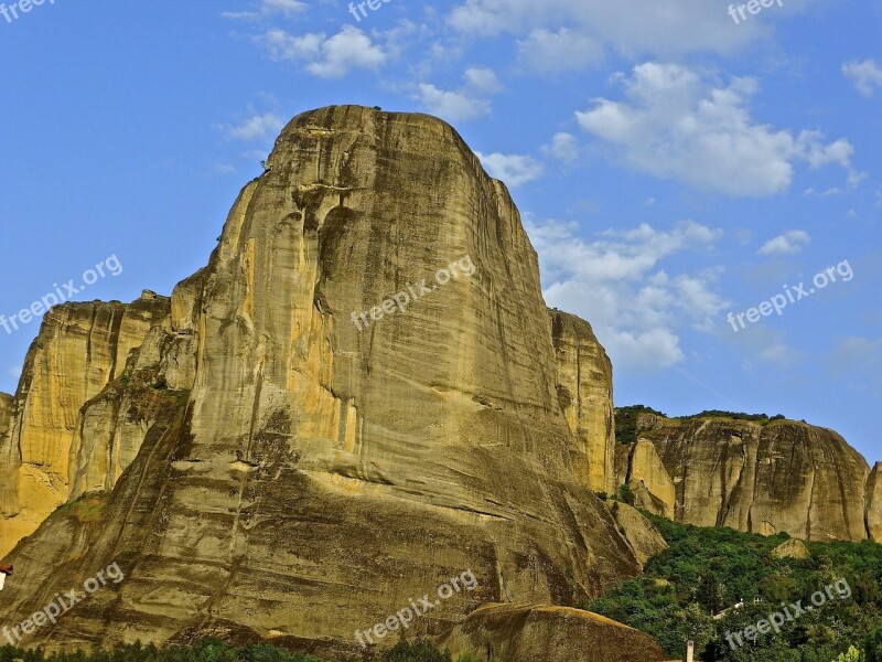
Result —
[[631, 78], [619, 77], [627, 100], [594, 99], [576, 117], [635, 170], [732, 196], [762, 196], [785, 191], [797, 161], [850, 167], [847, 140], [825, 145], [816, 131], [794, 137], [757, 124], [746, 108], [757, 92], [752, 78], [722, 86], [687, 67], [654, 62], [635, 66]]

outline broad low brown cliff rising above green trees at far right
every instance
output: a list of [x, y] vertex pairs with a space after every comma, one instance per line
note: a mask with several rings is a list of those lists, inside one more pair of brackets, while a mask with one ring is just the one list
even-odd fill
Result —
[[[673, 509], [680, 522], [820, 541], [867, 540], [865, 519], [878, 522], [879, 496], [872, 495], [879, 489], [864, 496], [867, 461], [832, 430], [790, 420], [646, 414], [637, 417], [637, 434], [627, 461], [619, 463], [619, 480], [648, 477], [639, 482], [652, 503], [662, 504], [656, 512]], [[667, 477], [659, 476], [656, 457]], [[879, 533], [871, 527], [869, 537], [880, 541]]]

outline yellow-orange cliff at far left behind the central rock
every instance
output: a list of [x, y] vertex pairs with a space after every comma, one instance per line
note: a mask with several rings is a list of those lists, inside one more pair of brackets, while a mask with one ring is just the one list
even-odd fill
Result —
[[[0, 557], [67, 501], [80, 407], [121, 374], [168, 307], [146, 295], [129, 306], [67, 303], [46, 314], [7, 405], [14, 415], [8, 429], [0, 425]], [[108, 473], [108, 488], [122, 468]]]

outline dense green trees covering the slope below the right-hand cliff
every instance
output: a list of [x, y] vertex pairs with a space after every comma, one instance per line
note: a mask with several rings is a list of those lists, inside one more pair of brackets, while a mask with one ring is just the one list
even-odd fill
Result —
[[[692, 639], [703, 661], [837, 662], [842, 655], [882, 662], [882, 545], [806, 543], [809, 558], [776, 558], [771, 552], [786, 534], [763, 537], [647, 516], [670, 547], [645, 575], [581, 607], [652, 634], [671, 658], [682, 656]], [[810, 606], [815, 591], [842, 579], [826, 604], [787, 619], [779, 633], [753, 642], [742, 636], [743, 645], [736, 644], [733, 633], [785, 608], [795, 615], [793, 602]], [[743, 607], [719, 615], [742, 599]]]

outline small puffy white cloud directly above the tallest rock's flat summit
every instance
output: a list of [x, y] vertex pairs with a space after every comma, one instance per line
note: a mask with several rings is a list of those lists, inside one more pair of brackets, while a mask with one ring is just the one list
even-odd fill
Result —
[[258, 38], [278, 62], [305, 62], [306, 71], [322, 78], [338, 78], [353, 68], [376, 70], [388, 53], [358, 28], [344, 25], [333, 36], [321, 33], [293, 35], [272, 29]]

